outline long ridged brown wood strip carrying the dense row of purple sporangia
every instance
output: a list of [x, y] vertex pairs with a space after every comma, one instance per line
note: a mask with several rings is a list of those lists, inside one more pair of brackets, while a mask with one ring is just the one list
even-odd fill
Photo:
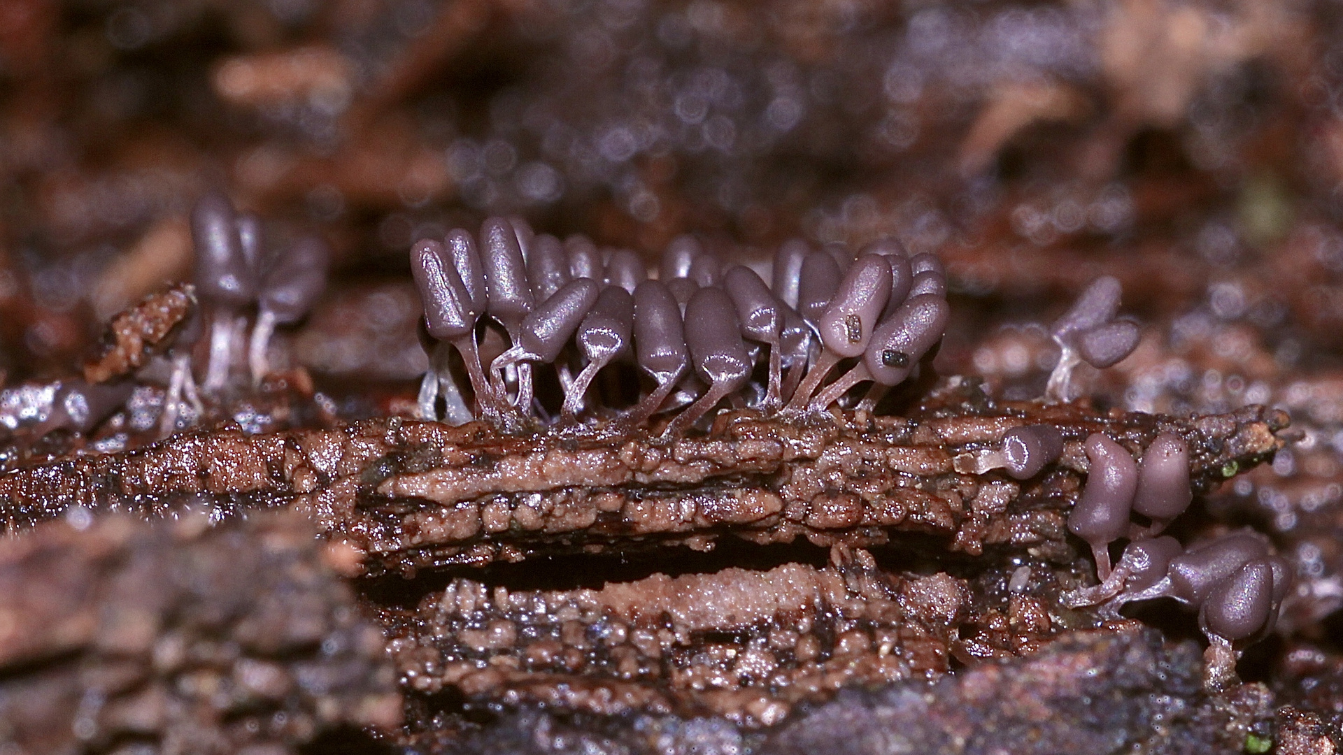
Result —
[[[1158, 433], [1178, 433], [1193, 451], [1195, 486], [1207, 489], [1272, 455], [1287, 423], [1260, 406], [1176, 419], [994, 403], [967, 386], [948, 395], [915, 418], [788, 422], [729, 412], [709, 434], [673, 441], [600, 426], [508, 435], [478, 422], [400, 418], [258, 435], [223, 427], [11, 472], [0, 477], [0, 520], [12, 529], [70, 506], [291, 505], [359, 551], [371, 574], [535, 553], [709, 548], [725, 535], [866, 547], [904, 531], [970, 555], [986, 545], [1048, 555], [1070, 552], [1064, 524], [1086, 470], [1088, 434], [1105, 433], [1140, 455]], [[1027, 423], [1064, 434], [1057, 465], [1026, 482], [998, 470], [958, 472], [966, 469], [958, 457]]]

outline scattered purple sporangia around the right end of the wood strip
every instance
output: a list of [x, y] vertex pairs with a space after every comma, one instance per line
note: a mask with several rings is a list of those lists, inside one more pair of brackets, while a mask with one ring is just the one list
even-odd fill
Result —
[[[1057, 400], [1066, 394], [1066, 372], [1078, 360], [1109, 367], [1138, 345], [1138, 326], [1115, 318], [1119, 297], [1119, 281], [1099, 278], [1054, 322], [1053, 337], [1062, 356], [1046, 398]], [[998, 458], [984, 466], [1002, 466], [1026, 480], [1056, 461], [1062, 449], [1062, 437], [1048, 425], [1018, 427], [1003, 438]], [[1113, 617], [1132, 601], [1174, 598], [1197, 609], [1209, 639], [1223, 646], [1257, 639], [1273, 629], [1292, 583], [1292, 567], [1269, 552], [1266, 537], [1244, 529], [1185, 549], [1174, 537], [1159, 536], [1194, 497], [1183, 438], [1162, 433], [1136, 461], [1100, 433], [1089, 435], [1084, 449], [1091, 468], [1068, 515], [1068, 529], [1091, 545], [1101, 583], [1068, 595], [1069, 605], [1104, 603], [1101, 613]], [[1132, 515], [1143, 523], [1135, 523]], [[1129, 543], [1111, 568], [1109, 547], [1121, 539]]]

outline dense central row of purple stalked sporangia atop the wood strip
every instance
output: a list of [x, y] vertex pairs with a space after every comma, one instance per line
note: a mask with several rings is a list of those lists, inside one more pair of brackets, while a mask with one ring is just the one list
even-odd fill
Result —
[[[724, 267], [693, 236], [673, 240], [659, 267], [647, 279], [633, 251], [533, 235], [501, 218], [485, 222], [478, 243], [463, 230], [418, 242], [411, 270], [438, 341], [422, 415], [438, 416], [442, 396], [449, 422], [549, 420], [553, 407], [537, 398], [533, 372], [549, 364], [563, 392], [559, 420], [569, 426], [598, 373], [631, 360], [653, 387], [611, 415], [615, 427], [680, 408], [665, 429], [674, 435], [723, 400], [795, 415], [839, 403], [865, 382], [872, 387], [853, 400], [872, 408], [919, 368], [950, 313], [937, 258], [908, 257], [893, 239], [857, 259], [842, 245], [784, 245], [772, 286], [743, 265]], [[508, 348], [486, 364], [478, 336], [488, 324], [508, 335]], [[465, 363], [475, 412], [458, 390], [449, 344]], [[841, 364], [846, 371], [823, 384]], [[763, 380], [752, 380], [757, 369]]]

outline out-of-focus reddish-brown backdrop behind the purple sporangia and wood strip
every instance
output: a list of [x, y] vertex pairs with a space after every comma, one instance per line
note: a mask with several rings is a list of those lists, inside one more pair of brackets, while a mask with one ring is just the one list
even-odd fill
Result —
[[748, 261], [898, 236], [948, 267], [940, 368], [1010, 398], [1108, 273], [1144, 337], [1084, 376], [1099, 403], [1292, 412], [1206, 508], [1276, 533], [1284, 626], [1332, 653], [1340, 32], [1328, 0], [0, 0], [0, 368], [68, 373], [185, 278], [212, 187], [334, 245], [279, 339], [318, 382], [410, 386], [407, 250], [496, 212], [650, 261], [686, 231]]

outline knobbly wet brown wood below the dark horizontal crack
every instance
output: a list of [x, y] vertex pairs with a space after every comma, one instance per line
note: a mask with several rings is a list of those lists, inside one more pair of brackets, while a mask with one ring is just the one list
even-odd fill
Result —
[[760, 727], [845, 686], [933, 678], [952, 657], [1031, 653], [1095, 626], [1082, 614], [1052, 619], [1058, 580], [1031, 571], [1031, 594], [986, 590], [1006, 578], [896, 574], [841, 547], [825, 568], [654, 574], [600, 588], [455, 579], [380, 618], [412, 693], [450, 688], [513, 707], [714, 715]]

